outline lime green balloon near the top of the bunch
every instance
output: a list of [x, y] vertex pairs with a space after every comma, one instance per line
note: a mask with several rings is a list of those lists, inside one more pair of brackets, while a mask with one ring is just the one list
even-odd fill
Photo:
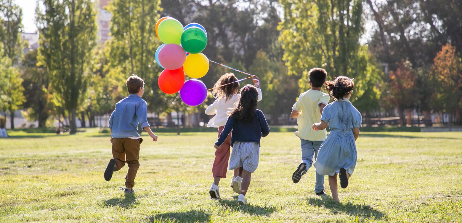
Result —
[[160, 22], [157, 32], [160, 40], [165, 44], [175, 43], [180, 45], [183, 25], [174, 18], [167, 18]]

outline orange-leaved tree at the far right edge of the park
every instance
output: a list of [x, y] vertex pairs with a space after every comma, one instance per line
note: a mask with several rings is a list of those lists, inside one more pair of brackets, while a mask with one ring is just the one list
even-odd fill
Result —
[[455, 113], [456, 123], [462, 123], [462, 60], [450, 43], [441, 48], [433, 60], [431, 73], [438, 82], [437, 97], [446, 112]]

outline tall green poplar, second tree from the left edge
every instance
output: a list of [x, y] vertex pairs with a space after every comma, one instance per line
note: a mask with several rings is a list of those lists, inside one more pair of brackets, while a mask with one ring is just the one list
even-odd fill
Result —
[[39, 64], [49, 73], [53, 97], [68, 112], [70, 133], [77, 132], [76, 112], [86, 98], [91, 52], [97, 26], [91, 0], [42, 0], [36, 10], [40, 32]]

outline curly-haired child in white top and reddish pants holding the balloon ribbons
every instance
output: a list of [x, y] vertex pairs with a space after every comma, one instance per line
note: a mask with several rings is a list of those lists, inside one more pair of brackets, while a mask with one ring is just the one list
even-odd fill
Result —
[[[258, 77], [253, 76], [254, 84], [258, 83]], [[213, 86], [213, 97], [216, 98], [210, 106], [207, 107], [205, 113], [207, 115], [215, 115], [207, 123], [207, 127], [218, 128], [218, 137], [225, 127], [228, 115], [234, 108], [234, 104], [239, 100], [240, 94], [237, 94], [239, 88], [239, 82], [236, 82], [237, 78], [233, 73], [225, 73], [220, 76], [218, 81]], [[221, 87], [220, 87], [221, 86]], [[261, 100], [261, 89], [257, 86], [258, 99]], [[217, 138], [218, 138], [217, 137]], [[212, 166], [213, 183], [210, 187], [209, 193], [211, 198], [220, 198], [220, 192], [218, 184], [221, 178], [226, 178], [226, 171], [228, 170], [228, 162], [230, 158], [231, 149], [231, 134], [224, 143], [215, 151], [215, 159]], [[237, 194], [240, 193], [241, 182], [242, 182], [242, 168], [234, 170], [234, 176], [231, 179], [231, 188]]]

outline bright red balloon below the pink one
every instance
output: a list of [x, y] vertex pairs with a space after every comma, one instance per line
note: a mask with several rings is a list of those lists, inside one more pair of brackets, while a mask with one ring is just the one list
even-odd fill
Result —
[[165, 94], [175, 94], [184, 84], [184, 71], [180, 67], [176, 70], [163, 70], [158, 79], [159, 88]]

